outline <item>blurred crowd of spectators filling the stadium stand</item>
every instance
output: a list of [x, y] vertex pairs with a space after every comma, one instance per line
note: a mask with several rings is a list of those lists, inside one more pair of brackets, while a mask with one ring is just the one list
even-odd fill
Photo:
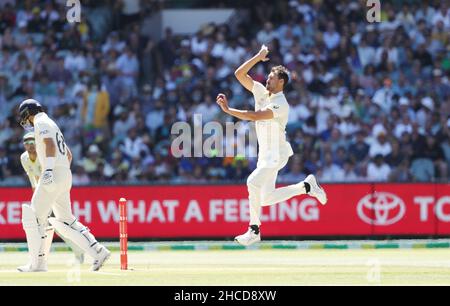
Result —
[[[23, 184], [17, 105], [40, 101], [73, 152], [74, 184], [244, 181], [255, 158], [175, 158], [171, 127], [231, 121], [215, 103], [253, 97], [235, 69], [267, 44], [269, 68], [290, 71], [288, 139], [295, 155], [280, 182], [448, 181], [450, 8], [446, 1], [258, 1], [235, 21], [195, 35], [143, 33], [160, 1], [0, 0], [0, 182]], [[103, 2], [106, 3], [106, 2]], [[225, 4], [228, 2], [225, 1]], [[401, 3], [401, 2], [399, 2]], [[255, 149], [256, 148], [249, 148]]]

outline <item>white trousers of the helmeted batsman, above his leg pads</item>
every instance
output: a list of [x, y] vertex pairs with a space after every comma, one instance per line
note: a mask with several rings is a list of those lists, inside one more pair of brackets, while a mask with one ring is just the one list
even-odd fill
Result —
[[72, 173], [70, 169], [55, 167], [53, 177], [56, 187], [54, 191], [49, 192], [39, 182], [31, 199], [31, 207], [36, 213], [39, 224], [47, 224], [48, 216], [52, 210], [58, 220], [72, 224], [76, 219], [72, 214], [70, 201]]

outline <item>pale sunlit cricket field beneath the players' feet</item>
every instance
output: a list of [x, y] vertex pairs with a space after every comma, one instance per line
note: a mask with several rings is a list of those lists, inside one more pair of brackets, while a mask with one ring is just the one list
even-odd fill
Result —
[[119, 253], [97, 273], [55, 252], [49, 272], [15, 268], [25, 252], [0, 253], [0, 285], [450, 285], [450, 249], [219, 250]]

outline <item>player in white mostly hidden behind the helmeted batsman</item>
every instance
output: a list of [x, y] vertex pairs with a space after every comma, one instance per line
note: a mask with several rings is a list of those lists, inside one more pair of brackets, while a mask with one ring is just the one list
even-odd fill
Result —
[[[23, 136], [23, 146], [25, 147], [25, 152], [23, 152], [22, 155], [20, 156], [20, 163], [22, 164], [22, 168], [23, 170], [25, 170], [28, 176], [31, 188], [33, 189], [34, 192], [42, 173], [41, 164], [37, 159], [36, 141], [34, 139], [34, 132], [28, 132]], [[67, 151], [67, 153], [70, 162], [72, 156], [69, 154], [70, 151]], [[46, 258], [48, 258], [48, 254], [50, 253], [54, 233], [55, 228], [53, 226], [50, 225], [45, 228], [44, 256]], [[61, 233], [58, 233], [58, 235], [61, 237], [61, 239], [64, 240], [65, 243], [67, 243], [70, 246], [70, 248], [74, 252], [76, 263], [82, 264], [84, 262], [84, 252], [80, 248], [78, 248], [74, 243], [72, 243], [69, 239], [63, 237]]]

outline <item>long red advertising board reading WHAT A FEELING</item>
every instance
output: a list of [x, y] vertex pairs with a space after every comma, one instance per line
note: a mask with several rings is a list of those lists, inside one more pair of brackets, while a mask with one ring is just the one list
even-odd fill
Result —
[[[450, 184], [330, 184], [322, 206], [308, 196], [264, 207], [264, 237], [450, 235]], [[110, 186], [72, 189], [74, 214], [98, 238], [119, 237], [119, 199], [128, 200], [128, 235], [233, 237], [248, 225], [245, 186]], [[0, 240], [23, 240], [28, 188], [0, 188]]]

